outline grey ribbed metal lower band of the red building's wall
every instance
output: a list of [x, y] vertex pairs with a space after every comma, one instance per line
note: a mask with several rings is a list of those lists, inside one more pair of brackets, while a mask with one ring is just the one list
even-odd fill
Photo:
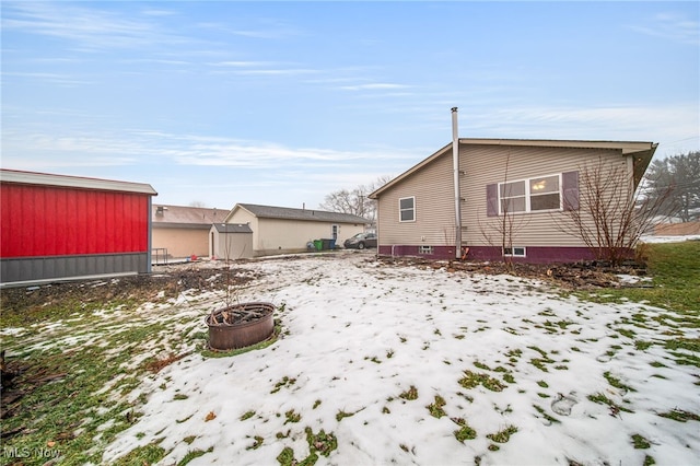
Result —
[[149, 253], [8, 257], [0, 259], [2, 284], [101, 275], [148, 273]]

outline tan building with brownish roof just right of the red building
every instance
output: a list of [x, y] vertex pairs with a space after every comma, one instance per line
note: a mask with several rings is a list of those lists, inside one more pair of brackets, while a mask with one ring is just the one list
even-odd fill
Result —
[[151, 207], [153, 263], [209, 255], [209, 233], [212, 223], [222, 222], [228, 210], [200, 207]]

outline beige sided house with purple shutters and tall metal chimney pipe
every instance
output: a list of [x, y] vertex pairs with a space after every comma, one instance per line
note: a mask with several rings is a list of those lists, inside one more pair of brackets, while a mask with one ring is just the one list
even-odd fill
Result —
[[564, 232], [571, 223], [565, 210], [579, 209], [580, 189], [585, 189], [582, 171], [600, 163], [610, 173], [620, 171], [625, 176], [619, 183], [628, 184], [632, 196], [657, 145], [456, 140], [457, 151], [450, 143], [370, 195], [378, 203], [378, 254], [455, 258], [467, 252], [466, 258], [510, 256], [527, 263], [592, 259], [583, 241]]

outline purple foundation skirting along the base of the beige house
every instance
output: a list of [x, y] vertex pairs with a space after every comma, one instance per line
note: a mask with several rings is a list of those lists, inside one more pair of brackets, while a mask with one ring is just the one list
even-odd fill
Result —
[[[465, 246], [468, 247], [467, 260], [503, 260], [500, 246]], [[594, 260], [595, 254], [587, 247], [576, 246], [524, 246], [525, 256], [509, 256], [514, 263], [527, 264], [558, 264], [575, 263], [581, 260]], [[454, 259], [454, 246], [432, 246], [432, 252], [425, 252], [425, 247], [413, 245], [380, 245], [381, 256], [416, 256], [427, 259]], [[633, 257], [632, 251], [629, 256]]]

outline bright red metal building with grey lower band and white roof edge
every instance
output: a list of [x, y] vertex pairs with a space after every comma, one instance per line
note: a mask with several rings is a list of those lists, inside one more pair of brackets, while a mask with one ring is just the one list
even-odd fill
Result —
[[0, 170], [0, 282], [151, 270], [148, 184]]

